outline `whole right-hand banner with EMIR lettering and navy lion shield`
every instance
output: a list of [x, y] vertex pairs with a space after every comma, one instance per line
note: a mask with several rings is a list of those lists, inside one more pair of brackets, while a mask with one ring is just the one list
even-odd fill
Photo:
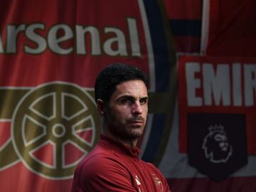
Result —
[[178, 74], [172, 189], [254, 191], [255, 58], [183, 56]]

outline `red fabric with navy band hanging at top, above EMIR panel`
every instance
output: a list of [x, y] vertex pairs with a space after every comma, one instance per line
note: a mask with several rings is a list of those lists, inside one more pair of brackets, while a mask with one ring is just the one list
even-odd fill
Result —
[[203, 1], [165, 0], [167, 18], [178, 53], [199, 53]]

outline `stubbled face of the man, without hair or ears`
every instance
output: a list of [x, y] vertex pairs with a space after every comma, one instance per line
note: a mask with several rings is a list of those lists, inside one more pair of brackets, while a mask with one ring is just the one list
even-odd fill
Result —
[[123, 140], [142, 135], [148, 112], [148, 93], [142, 80], [128, 80], [117, 85], [107, 107], [111, 134]]

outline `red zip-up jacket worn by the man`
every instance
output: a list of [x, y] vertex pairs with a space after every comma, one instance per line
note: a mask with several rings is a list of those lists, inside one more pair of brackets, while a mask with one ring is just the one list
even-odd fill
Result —
[[128, 148], [104, 135], [75, 170], [72, 192], [170, 191], [153, 164], [139, 159], [139, 149]]

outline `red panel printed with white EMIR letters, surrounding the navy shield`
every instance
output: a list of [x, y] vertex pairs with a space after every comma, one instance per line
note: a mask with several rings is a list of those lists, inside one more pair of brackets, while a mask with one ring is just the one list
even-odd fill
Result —
[[188, 113], [245, 114], [247, 151], [256, 154], [256, 60], [184, 56], [179, 61], [180, 151], [187, 151]]

